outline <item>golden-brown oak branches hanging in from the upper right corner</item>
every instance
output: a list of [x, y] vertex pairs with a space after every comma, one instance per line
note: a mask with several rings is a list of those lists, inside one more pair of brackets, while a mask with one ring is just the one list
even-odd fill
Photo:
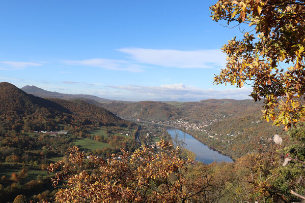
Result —
[[253, 28], [223, 46], [227, 65], [214, 83], [251, 84], [254, 100], [264, 98], [264, 118], [286, 130], [304, 121], [305, 2], [219, 0], [210, 9], [215, 21]]

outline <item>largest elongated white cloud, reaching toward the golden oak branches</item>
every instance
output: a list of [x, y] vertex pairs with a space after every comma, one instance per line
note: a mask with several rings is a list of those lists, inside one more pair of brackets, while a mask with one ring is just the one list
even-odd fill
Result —
[[220, 49], [181, 51], [172, 49], [122, 48], [118, 51], [129, 54], [139, 63], [164, 67], [219, 68], [226, 63], [226, 54]]

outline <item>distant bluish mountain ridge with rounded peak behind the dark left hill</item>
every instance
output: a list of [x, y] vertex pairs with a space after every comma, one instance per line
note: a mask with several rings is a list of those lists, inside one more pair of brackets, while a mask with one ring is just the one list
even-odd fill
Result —
[[81, 98], [81, 99], [92, 99], [98, 102], [104, 102], [104, 101], [115, 101], [111, 99], [106, 99], [106, 98], [101, 98], [98, 96], [93, 96], [89, 94], [64, 94], [64, 93], [59, 93], [59, 92], [51, 92], [47, 91], [44, 89], [41, 89], [39, 87], [36, 87], [34, 85], [26, 85], [21, 88], [21, 90], [25, 91], [28, 94], [33, 94], [35, 96], [39, 96], [42, 98], [61, 98], [61, 99], [66, 99], [66, 100], [73, 100], [76, 98]]

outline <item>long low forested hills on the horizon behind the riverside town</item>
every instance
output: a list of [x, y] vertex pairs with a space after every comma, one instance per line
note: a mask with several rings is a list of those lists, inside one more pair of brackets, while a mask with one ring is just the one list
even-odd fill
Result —
[[123, 118], [160, 121], [183, 119], [202, 122], [241, 116], [245, 112], [261, 114], [263, 103], [254, 103], [250, 99], [206, 99], [198, 102], [109, 102], [103, 103], [101, 106]]

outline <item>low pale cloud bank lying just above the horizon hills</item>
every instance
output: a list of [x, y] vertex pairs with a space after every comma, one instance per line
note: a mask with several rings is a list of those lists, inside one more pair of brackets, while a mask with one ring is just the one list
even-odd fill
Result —
[[198, 87], [188, 86], [183, 83], [169, 84], [161, 86], [107, 86], [114, 89], [122, 90], [121, 94], [126, 97], [138, 97], [136, 99], [152, 100], [201, 100], [207, 98], [233, 98], [248, 99], [252, 88], [234, 88], [225, 90], [201, 89]]

